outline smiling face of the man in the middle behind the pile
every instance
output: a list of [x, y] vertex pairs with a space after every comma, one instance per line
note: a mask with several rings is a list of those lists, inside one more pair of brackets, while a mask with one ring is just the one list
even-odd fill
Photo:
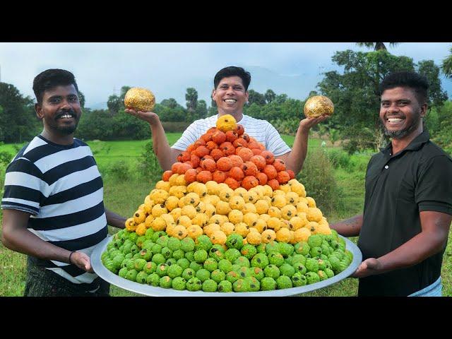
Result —
[[232, 114], [242, 112], [245, 102], [248, 100], [248, 91], [239, 76], [222, 78], [218, 87], [213, 90], [212, 98], [217, 103], [219, 112]]

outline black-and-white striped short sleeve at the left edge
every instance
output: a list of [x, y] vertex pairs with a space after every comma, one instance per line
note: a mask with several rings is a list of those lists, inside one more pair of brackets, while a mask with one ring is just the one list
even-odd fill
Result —
[[23, 210], [37, 215], [42, 201], [42, 191], [46, 190], [42, 172], [23, 157], [11, 162], [6, 168], [4, 196], [1, 208]]

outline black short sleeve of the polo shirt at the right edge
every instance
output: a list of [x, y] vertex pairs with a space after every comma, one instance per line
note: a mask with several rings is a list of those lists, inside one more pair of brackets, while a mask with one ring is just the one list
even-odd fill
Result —
[[432, 210], [452, 215], [452, 160], [432, 157], [421, 169], [415, 190], [420, 212]]

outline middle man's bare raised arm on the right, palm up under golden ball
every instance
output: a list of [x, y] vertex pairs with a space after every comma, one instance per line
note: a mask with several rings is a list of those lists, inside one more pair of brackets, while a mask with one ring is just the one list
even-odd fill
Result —
[[287, 169], [292, 169], [292, 171], [297, 175], [303, 167], [304, 160], [308, 153], [308, 136], [311, 127], [319, 124], [319, 122], [328, 119], [328, 116], [323, 115], [316, 118], [306, 118], [299, 121], [299, 126], [297, 134], [295, 135], [294, 145], [289, 153], [280, 155], [278, 158], [285, 161]]

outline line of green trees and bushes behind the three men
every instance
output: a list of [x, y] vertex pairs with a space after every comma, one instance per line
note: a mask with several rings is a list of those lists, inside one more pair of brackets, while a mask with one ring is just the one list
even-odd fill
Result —
[[[381, 48], [381, 43], [378, 46], [379, 49], [375, 47], [372, 52], [335, 52], [331, 60], [343, 71], [323, 73], [323, 79], [304, 100], [276, 94], [271, 89], [266, 93], [250, 89], [244, 114], [270, 121], [280, 133], [293, 134], [299, 120], [303, 119], [304, 102], [311, 95], [326, 95], [334, 102], [335, 113], [316, 129], [333, 142], [343, 141], [350, 153], [377, 150], [388, 141], [379, 121], [379, 83], [393, 71], [417, 71], [427, 77], [430, 85], [425, 126], [434, 141], [452, 153], [452, 103], [440, 81], [441, 71], [452, 76], [448, 68], [450, 57], [441, 66], [436, 66], [432, 60], [415, 63], [410, 57], [389, 53], [386, 47]], [[110, 95], [107, 109], [84, 108], [76, 137], [84, 140], [149, 138], [148, 124], [124, 113], [124, 95], [129, 88], [123, 86], [119, 95]], [[85, 96], [79, 94], [83, 107]], [[155, 105], [154, 112], [162, 121], [184, 122], [181, 126], [217, 114], [215, 102], [212, 100], [208, 106], [205, 100], [198, 100], [195, 88], [186, 88], [185, 99], [184, 106], [174, 98], [162, 100]], [[39, 133], [42, 124], [35, 117], [34, 102], [30, 97], [23, 97], [13, 85], [0, 83], [0, 141], [20, 143]]]

